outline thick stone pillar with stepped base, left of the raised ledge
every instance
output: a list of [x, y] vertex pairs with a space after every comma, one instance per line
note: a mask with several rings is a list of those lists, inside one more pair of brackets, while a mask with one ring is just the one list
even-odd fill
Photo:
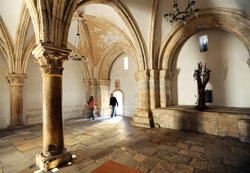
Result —
[[[139, 127], [151, 128], [154, 126], [150, 103], [150, 72], [139, 71], [135, 73], [138, 85], [138, 108], [133, 116], [132, 124]], [[153, 98], [153, 96], [152, 96]]]

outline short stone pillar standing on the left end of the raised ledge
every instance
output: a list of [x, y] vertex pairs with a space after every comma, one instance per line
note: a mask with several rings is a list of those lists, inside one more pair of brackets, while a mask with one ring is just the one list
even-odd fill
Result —
[[160, 88], [160, 107], [165, 108], [171, 105], [171, 86], [173, 72], [169, 70], [160, 70], [159, 88]]

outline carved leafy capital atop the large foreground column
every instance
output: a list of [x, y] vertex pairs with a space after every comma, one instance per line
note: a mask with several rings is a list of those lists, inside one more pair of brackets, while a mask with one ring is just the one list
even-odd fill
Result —
[[40, 64], [43, 74], [58, 74], [63, 71], [63, 62], [68, 60], [70, 49], [41, 43], [32, 52], [36, 62]]

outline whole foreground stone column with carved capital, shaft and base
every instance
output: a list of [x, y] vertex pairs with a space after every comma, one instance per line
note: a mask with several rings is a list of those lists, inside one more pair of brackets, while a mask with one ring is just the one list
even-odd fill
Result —
[[71, 160], [64, 148], [62, 118], [62, 72], [69, 49], [40, 44], [33, 51], [40, 64], [43, 78], [43, 152], [37, 154], [36, 163], [48, 170]]

